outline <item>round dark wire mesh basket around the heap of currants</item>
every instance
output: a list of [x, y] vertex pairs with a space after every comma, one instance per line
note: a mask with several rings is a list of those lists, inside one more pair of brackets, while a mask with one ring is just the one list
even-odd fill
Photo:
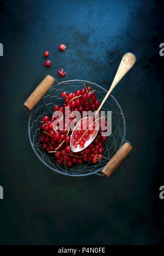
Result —
[[[63, 104], [63, 98], [61, 97], [62, 91], [66, 91], [67, 93], [73, 92], [77, 90], [77, 88], [84, 88], [84, 84], [90, 85], [93, 90], [96, 90], [96, 96], [101, 102], [106, 95], [107, 90], [95, 84], [94, 82], [84, 80], [62, 81], [60, 83], [53, 84], [49, 88], [48, 92], [46, 92], [45, 95], [42, 97], [42, 100], [40, 100], [32, 109], [28, 121], [28, 135], [34, 153], [36, 153], [37, 157], [48, 168], [64, 175], [86, 176], [91, 174], [98, 174], [98, 172], [100, 172], [104, 168], [104, 166], [106, 166], [106, 164], [114, 156], [114, 154], [118, 152], [119, 148], [125, 141], [126, 125], [124, 114], [118, 101], [116, 101], [116, 99], [111, 95], [104, 103], [102, 110], [112, 111], [112, 134], [109, 136], [108, 140], [104, 144], [104, 157], [101, 161], [98, 161], [96, 164], [93, 164], [91, 162], [84, 162], [82, 164], [74, 164], [71, 167], [66, 167], [57, 164], [55, 158], [53, 157], [53, 154], [46, 153], [41, 147], [39, 121], [42, 119], [42, 116], [52, 115], [53, 106]], [[27, 104], [25, 103], [24, 105], [27, 106]]]

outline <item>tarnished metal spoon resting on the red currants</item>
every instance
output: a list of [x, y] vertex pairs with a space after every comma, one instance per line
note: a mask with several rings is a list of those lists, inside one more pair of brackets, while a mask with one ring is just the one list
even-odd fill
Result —
[[[78, 145], [75, 145], [73, 146], [73, 143], [74, 143], [74, 135], [77, 133], [77, 130], [79, 125], [81, 124], [81, 120], [83, 120], [83, 122], [85, 122], [86, 120], [89, 120], [89, 118], [92, 118], [91, 116], [86, 116], [85, 118], [81, 118], [77, 125], [75, 125], [74, 129], [73, 129], [73, 132], [72, 132], [72, 135], [71, 135], [71, 140], [70, 140], [70, 147], [71, 147], [71, 150], [73, 152], [80, 152], [80, 151], [83, 151], [86, 147], [89, 146], [89, 144], [91, 144], [91, 142], [95, 139], [96, 135], [97, 135], [97, 132], [98, 132], [98, 123], [96, 121], [96, 116], [98, 115], [99, 113], [99, 110], [102, 108], [104, 102], [106, 101], [106, 99], [109, 97], [110, 93], [113, 91], [113, 89], [116, 87], [116, 85], [118, 85], [118, 83], [120, 82], [120, 80], [122, 79], [122, 77], [124, 77], [126, 75], [126, 73], [128, 72], [128, 70], [130, 70], [132, 68], [132, 66], [134, 65], [134, 63], [136, 62], [136, 57], [133, 53], [126, 53], [122, 59], [121, 59], [121, 62], [120, 62], [120, 65], [119, 65], [119, 68], [118, 68], [118, 71], [116, 72], [116, 75], [114, 77], [114, 80], [112, 82], [112, 85], [110, 86], [109, 88], [109, 91], [107, 92], [106, 96], [104, 97], [101, 105], [99, 105], [99, 108], [97, 109], [96, 113], [95, 113], [95, 130], [92, 131], [92, 134], [89, 138], [89, 140], [87, 140], [84, 144], [84, 146], [79, 146]], [[82, 136], [81, 136], [82, 137]]]

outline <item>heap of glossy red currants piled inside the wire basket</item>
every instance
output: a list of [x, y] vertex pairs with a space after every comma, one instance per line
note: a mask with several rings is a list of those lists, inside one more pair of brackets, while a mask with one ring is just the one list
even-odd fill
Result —
[[[54, 111], [60, 110], [63, 113], [63, 120], [58, 118], [57, 126], [60, 126], [60, 122], [63, 121], [63, 129], [58, 129], [54, 127], [53, 122], [57, 118], [50, 116], [43, 116], [40, 122], [40, 142], [42, 142], [42, 148], [50, 154], [54, 154], [55, 160], [58, 164], [72, 166], [72, 164], [81, 164], [85, 161], [91, 161], [92, 163], [97, 163], [98, 160], [103, 158], [104, 147], [103, 143], [107, 140], [107, 136], [101, 136], [101, 127], [97, 133], [96, 138], [92, 143], [86, 147], [83, 151], [73, 152], [70, 147], [70, 140], [72, 129], [67, 126], [65, 122], [65, 107], [69, 107], [69, 123], [75, 118], [71, 117], [71, 112], [78, 110], [80, 114], [83, 111], [95, 111], [99, 107], [99, 101], [96, 97], [95, 91], [92, 90], [90, 86], [85, 86], [82, 90], [77, 90], [74, 93], [62, 92], [61, 96], [65, 98], [65, 103], [62, 107], [54, 105]], [[106, 125], [108, 125], [106, 121]], [[94, 128], [93, 124], [93, 128]], [[86, 140], [89, 138], [90, 133], [88, 123], [85, 129], [77, 130], [74, 134], [74, 146], [83, 147]]]

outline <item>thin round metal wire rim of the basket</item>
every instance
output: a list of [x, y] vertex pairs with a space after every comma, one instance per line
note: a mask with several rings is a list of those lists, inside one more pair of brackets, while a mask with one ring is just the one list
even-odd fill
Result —
[[[56, 80], [55, 80], [56, 81]], [[107, 92], [106, 88], [103, 88], [102, 86], [96, 84], [95, 82], [90, 82], [90, 81], [86, 81], [86, 80], [80, 80], [80, 79], [74, 79], [74, 80], [66, 80], [66, 81], [62, 81], [62, 82], [57, 82], [56, 84], [52, 85], [48, 91], [50, 91], [52, 89], [53, 86], [58, 86], [58, 85], [61, 85], [61, 84], [65, 84], [66, 82], [85, 82], [85, 83], [89, 83], [91, 85], [95, 85], [99, 88], [101, 88], [102, 90], [104, 90], [104, 92]], [[116, 102], [116, 104], [118, 105], [119, 109], [120, 109], [120, 112], [121, 112], [121, 115], [122, 115], [122, 119], [123, 119], [123, 123], [124, 123], [124, 134], [122, 136], [122, 141], [119, 145], [119, 148], [122, 146], [122, 144], [124, 143], [125, 141], [125, 134], [126, 134], [126, 123], [125, 123], [125, 116], [124, 116], [124, 113], [122, 112], [122, 108], [120, 106], [120, 104], [118, 103], [118, 101], [115, 99], [115, 97], [110, 94], [110, 97], [112, 97], [114, 99], [114, 101]], [[29, 119], [28, 119], [28, 137], [30, 139], [30, 143], [31, 143], [31, 147], [34, 151], [34, 153], [37, 155], [37, 157], [39, 158], [39, 160], [44, 164], [46, 165], [49, 169], [51, 169], [52, 171], [55, 171], [55, 172], [58, 172], [59, 174], [62, 174], [62, 175], [66, 175], [66, 176], [72, 176], [72, 177], [84, 177], [84, 176], [89, 176], [89, 175], [92, 175], [92, 174], [96, 174], [97, 172], [101, 171], [102, 168], [99, 168], [98, 170], [96, 171], [93, 171], [93, 172], [89, 172], [87, 174], [68, 174], [67, 172], [61, 172], [61, 171], [58, 171], [57, 169], [55, 170], [54, 168], [52, 168], [51, 166], [49, 166], [46, 162], [43, 161], [43, 159], [40, 157], [40, 155], [37, 153], [35, 147], [33, 146], [33, 143], [32, 143], [32, 140], [31, 140], [31, 136], [30, 136], [30, 121], [31, 121], [31, 117], [32, 117], [32, 114], [33, 114], [33, 111], [34, 109], [31, 110], [31, 113], [30, 113], [30, 116], [29, 116]]]

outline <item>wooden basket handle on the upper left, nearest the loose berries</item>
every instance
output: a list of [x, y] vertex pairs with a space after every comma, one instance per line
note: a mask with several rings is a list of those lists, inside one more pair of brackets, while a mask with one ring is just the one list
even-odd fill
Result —
[[55, 78], [47, 75], [42, 82], [36, 87], [36, 89], [31, 93], [31, 95], [26, 99], [24, 105], [32, 110], [33, 107], [40, 101], [44, 94], [49, 90], [52, 84], [54, 84]]

